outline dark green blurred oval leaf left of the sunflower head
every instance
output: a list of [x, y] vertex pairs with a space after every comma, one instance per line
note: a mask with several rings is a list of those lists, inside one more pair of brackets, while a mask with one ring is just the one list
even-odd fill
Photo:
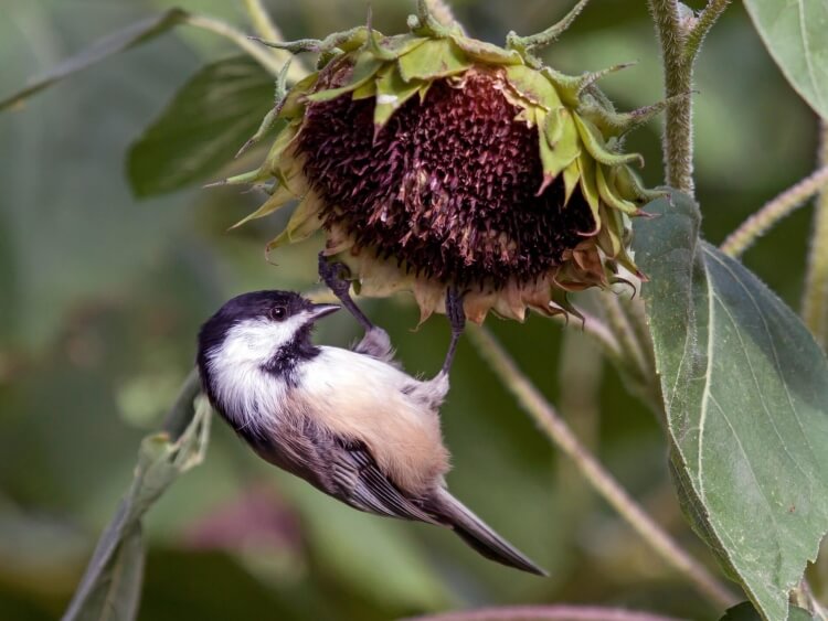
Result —
[[273, 76], [250, 56], [201, 68], [129, 148], [132, 192], [162, 194], [215, 174], [256, 131], [273, 97]]

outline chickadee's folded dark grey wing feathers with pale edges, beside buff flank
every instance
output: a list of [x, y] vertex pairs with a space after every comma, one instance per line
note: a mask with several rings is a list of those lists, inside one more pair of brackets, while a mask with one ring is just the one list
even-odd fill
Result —
[[333, 479], [349, 504], [390, 517], [440, 524], [406, 499], [380, 470], [373, 456], [362, 443], [342, 446], [332, 463]]

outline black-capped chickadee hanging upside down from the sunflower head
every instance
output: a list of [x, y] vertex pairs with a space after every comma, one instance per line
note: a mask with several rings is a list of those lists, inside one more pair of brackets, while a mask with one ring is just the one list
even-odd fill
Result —
[[290, 291], [233, 298], [199, 333], [213, 407], [263, 459], [322, 492], [369, 513], [447, 526], [492, 560], [545, 575], [446, 489], [438, 408], [461, 331], [457, 312], [446, 364], [424, 382], [394, 363], [388, 334], [357, 309], [347, 282], [331, 271], [325, 279], [367, 328], [363, 340], [353, 350], [311, 342], [314, 323], [337, 304]]

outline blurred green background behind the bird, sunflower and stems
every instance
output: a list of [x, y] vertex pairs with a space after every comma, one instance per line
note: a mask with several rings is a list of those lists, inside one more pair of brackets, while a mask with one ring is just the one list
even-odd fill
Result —
[[[403, 31], [414, 6], [371, 3], [375, 28], [386, 33]], [[453, 4], [471, 35], [501, 43], [509, 30], [542, 30], [572, 3]], [[367, 12], [363, 0], [267, 4], [289, 39], [361, 24]], [[3, 0], [0, 97], [98, 38], [172, 6]], [[176, 6], [250, 31], [241, 2]], [[0, 115], [0, 619], [62, 613], [129, 484], [140, 438], [159, 427], [192, 366], [200, 323], [242, 291], [316, 283], [314, 242], [279, 250], [278, 266], [263, 258], [284, 215], [226, 233], [261, 196], [204, 190], [210, 179], [200, 179], [137, 200], [126, 180], [130, 142], [188, 77], [233, 54], [225, 40], [178, 29]], [[660, 97], [643, 0], [596, 0], [545, 58], [569, 73], [638, 61], [603, 88], [619, 108]], [[719, 243], [811, 170], [816, 121], [741, 3], [710, 35], [697, 87], [698, 196], [704, 235]], [[269, 105], [263, 97], [254, 127]], [[662, 178], [659, 129], [654, 122], [629, 143], [645, 154], [650, 184]], [[231, 160], [237, 147], [219, 157]], [[247, 163], [261, 157], [259, 150]], [[795, 309], [809, 220], [808, 210], [798, 212], [744, 258]], [[439, 367], [448, 342], [443, 318], [414, 331], [417, 312], [407, 298], [365, 306], [410, 372]], [[586, 338], [538, 317], [489, 324], [606, 467], [712, 566], [678, 508], [656, 418]], [[318, 333], [340, 345], [355, 336], [344, 315]], [[379, 620], [529, 602], [714, 615], [559, 458], [466, 342], [443, 421], [453, 491], [546, 567], [550, 579], [488, 563], [444, 531], [349, 510], [267, 467], [216, 421], [205, 462], [146, 520], [140, 619]]]

